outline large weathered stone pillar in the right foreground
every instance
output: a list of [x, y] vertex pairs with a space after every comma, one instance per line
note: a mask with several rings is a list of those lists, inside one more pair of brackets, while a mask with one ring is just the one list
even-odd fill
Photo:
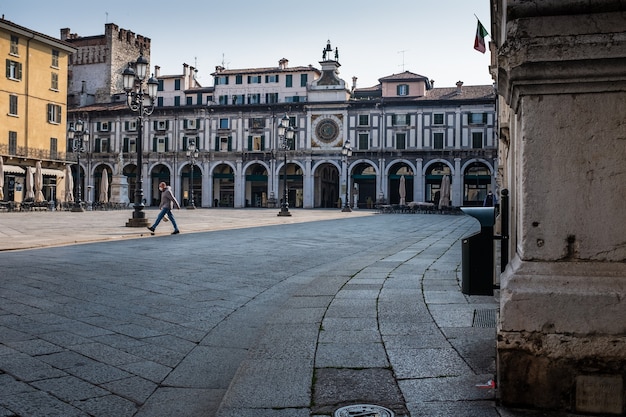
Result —
[[505, 406], [625, 415], [621, 4], [491, 0], [500, 163], [515, 202], [497, 342]]

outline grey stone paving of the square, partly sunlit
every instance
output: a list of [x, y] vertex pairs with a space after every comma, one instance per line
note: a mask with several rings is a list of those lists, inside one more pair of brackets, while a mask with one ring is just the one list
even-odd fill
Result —
[[[40, 273], [3, 269], [13, 279], [2, 288], [0, 416], [207, 417], [202, 410], [212, 409], [211, 417], [318, 417], [363, 403], [398, 417], [549, 415], [502, 409], [497, 390], [478, 387], [495, 378], [495, 320], [477, 327], [476, 314], [497, 311], [498, 294], [460, 291], [459, 239], [478, 229], [473, 219], [366, 210], [276, 213], [180, 210], [177, 236], [169, 236], [168, 223], [155, 236], [125, 227], [130, 210], [0, 214], [0, 252], [17, 263], [28, 262], [29, 249], [125, 240], [142, 270], [153, 268], [142, 260], [142, 240], [171, 239], [167, 255], [184, 259], [179, 273], [186, 278], [173, 284], [132, 271], [128, 280], [108, 277], [72, 251], [64, 251], [66, 265], [42, 253], [51, 257], [51, 269]], [[367, 243], [361, 256], [342, 260], [355, 273], [302, 257], [298, 274], [273, 268], [269, 277], [263, 273], [273, 262], [265, 256], [268, 245], [280, 242], [259, 229], [257, 244], [233, 252], [231, 260], [259, 259], [257, 268], [227, 281], [204, 279], [227, 264], [207, 265], [186, 246], [171, 245], [190, 233], [347, 216], [415, 216], [421, 231], [409, 245], [384, 237], [379, 250], [376, 238], [351, 229], [353, 241]], [[290, 244], [305, 253], [320, 243], [315, 239]], [[72, 265], [86, 272], [69, 293], [38, 284]], [[94, 291], [108, 304], [92, 303]], [[142, 303], [135, 307], [137, 299]], [[223, 360], [228, 357], [232, 361]]]

